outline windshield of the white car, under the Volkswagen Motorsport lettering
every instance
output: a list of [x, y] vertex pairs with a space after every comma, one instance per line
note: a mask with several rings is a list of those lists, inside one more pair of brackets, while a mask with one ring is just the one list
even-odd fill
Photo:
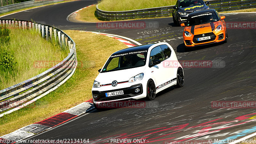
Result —
[[[129, 54], [133, 53], [133, 54]], [[112, 55], [102, 72], [116, 71], [128, 68], [137, 68], [145, 66], [147, 50], [140, 52], [129, 52], [124, 54]]]

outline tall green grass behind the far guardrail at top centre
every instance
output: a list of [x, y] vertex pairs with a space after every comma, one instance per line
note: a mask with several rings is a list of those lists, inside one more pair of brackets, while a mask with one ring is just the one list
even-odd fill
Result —
[[176, 0], [101, 0], [99, 9], [104, 11], [128, 11], [175, 5]]

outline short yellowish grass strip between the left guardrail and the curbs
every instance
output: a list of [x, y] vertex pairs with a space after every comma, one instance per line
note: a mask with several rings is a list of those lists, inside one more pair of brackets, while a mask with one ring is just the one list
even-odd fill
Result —
[[[118, 40], [93, 33], [64, 31], [76, 43], [78, 67], [73, 76], [55, 91], [32, 105], [0, 118], [0, 136], [54, 116], [92, 98], [92, 84], [109, 55], [127, 46]], [[95, 43], [97, 40], [97, 43]]]

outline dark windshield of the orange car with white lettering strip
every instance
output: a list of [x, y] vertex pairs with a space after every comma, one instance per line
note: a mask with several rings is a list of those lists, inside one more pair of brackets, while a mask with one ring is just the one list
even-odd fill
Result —
[[198, 14], [195, 16], [189, 16], [187, 26], [195, 26], [205, 23], [218, 21], [218, 16], [214, 12]]

